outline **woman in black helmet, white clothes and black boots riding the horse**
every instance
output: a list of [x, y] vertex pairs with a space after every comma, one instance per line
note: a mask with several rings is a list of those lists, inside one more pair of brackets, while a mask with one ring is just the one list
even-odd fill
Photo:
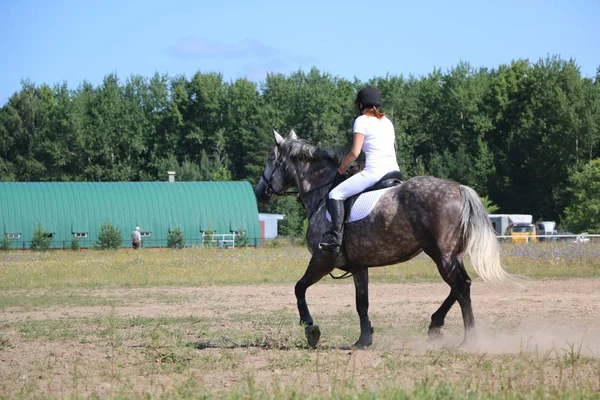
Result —
[[344, 200], [373, 186], [386, 173], [400, 170], [396, 161], [394, 125], [377, 109], [381, 106], [379, 90], [370, 86], [360, 89], [354, 103], [361, 115], [354, 120], [352, 148], [337, 172], [345, 174], [361, 150], [365, 153], [365, 167], [329, 193], [327, 210], [331, 214], [332, 229], [325, 233], [319, 246], [330, 252], [339, 252], [342, 245]]

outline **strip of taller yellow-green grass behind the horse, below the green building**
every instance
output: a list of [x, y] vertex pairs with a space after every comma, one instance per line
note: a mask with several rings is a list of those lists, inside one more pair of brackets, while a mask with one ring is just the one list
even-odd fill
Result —
[[[600, 243], [595, 242], [502, 246], [507, 270], [534, 279], [598, 277], [598, 258]], [[0, 252], [0, 289], [291, 284], [300, 278], [309, 260], [310, 253], [297, 246]], [[379, 283], [439, 280], [435, 264], [425, 254], [371, 272], [371, 281]]]

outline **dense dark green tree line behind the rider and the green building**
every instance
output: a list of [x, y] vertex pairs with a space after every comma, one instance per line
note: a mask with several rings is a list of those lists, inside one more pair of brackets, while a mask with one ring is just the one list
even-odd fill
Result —
[[[109, 74], [76, 89], [24, 81], [0, 109], [0, 180], [164, 181], [174, 170], [178, 180], [255, 184], [272, 128], [345, 152], [365, 84], [382, 92], [407, 177], [453, 179], [499, 212], [600, 232], [600, 69], [584, 77], [559, 57], [368, 82], [316, 68], [259, 84], [201, 72]], [[302, 231], [295, 200], [263, 211], [288, 215], [284, 234]]]

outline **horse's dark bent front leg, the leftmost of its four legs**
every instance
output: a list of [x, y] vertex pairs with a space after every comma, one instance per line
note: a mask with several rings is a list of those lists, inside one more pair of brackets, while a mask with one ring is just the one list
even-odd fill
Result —
[[296, 283], [296, 287], [294, 288], [298, 313], [300, 314], [300, 324], [306, 326], [304, 331], [306, 333], [308, 345], [311, 347], [315, 347], [317, 343], [319, 343], [321, 331], [317, 325], [313, 324], [312, 316], [310, 315], [308, 305], [306, 304], [306, 290], [320, 281], [325, 275], [333, 271], [335, 259], [332, 254], [333, 253], [326, 253], [320, 250], [316, 251], [308, 263], [306, 272], [304, 272], [304, 275]]

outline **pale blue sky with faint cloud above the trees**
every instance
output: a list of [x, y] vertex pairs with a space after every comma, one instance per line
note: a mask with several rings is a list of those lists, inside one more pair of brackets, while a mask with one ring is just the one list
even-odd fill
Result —
[[217, 71], [259, 82], [315, 66], [367, 80], [547, 55], [595, 76], [599, 0], [0, 0], [0, 105], [21, 79], [76, 88], [111, 72]]

